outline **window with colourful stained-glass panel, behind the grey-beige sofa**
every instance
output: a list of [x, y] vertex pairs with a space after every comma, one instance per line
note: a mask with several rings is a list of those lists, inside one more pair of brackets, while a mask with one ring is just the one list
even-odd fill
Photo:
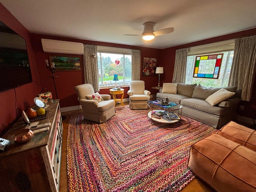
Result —
[[[195, 47], [188, 51], [186, 83], [197, 83], [207, 87], [228, 86], [234, 54], [234, 43], [232, 41], [221, 43], [222, 45], [216, 45], [215, 43], [214, 46], [210, 44], [200, 49]], [[220, 55], [222, 61], [218, 63], [217, 60], [220, 58]], [[209, 56], [211, 59], [206, 61], [206, 57], [209, 58]], [[216, 59], [214, 59], [215, 56], [217, 56]]]

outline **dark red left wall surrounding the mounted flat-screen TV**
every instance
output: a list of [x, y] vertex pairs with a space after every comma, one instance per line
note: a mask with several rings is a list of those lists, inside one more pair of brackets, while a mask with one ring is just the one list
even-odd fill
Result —
[[0, 92], [0, 135], [2, 135], [13, 124], [14, 120], [21, 116], [22, 110], [26, 110], [34, 104], [34, 98], [40, 91], [40, 80], [28, 30], [1, 3], [0, 21], [26, 39], [33, 79], [32, 83]]

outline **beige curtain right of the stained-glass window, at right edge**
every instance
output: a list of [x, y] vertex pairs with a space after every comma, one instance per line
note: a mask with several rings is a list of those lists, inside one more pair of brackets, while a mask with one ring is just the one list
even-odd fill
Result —
[[256, 36], [235, 39], [234, 58], [228, 86], [237, 86], [241, 100], [250, 101], [255, 76]]

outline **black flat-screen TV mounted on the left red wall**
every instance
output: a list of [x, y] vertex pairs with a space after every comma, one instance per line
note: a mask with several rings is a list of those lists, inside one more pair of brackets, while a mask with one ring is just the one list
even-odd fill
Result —
[[26, 40], [0, 22], [0, 92], [30, 82]]

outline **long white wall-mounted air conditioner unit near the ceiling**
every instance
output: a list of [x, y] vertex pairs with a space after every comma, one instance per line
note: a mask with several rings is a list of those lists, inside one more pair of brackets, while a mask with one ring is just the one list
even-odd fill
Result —
[[84, 54], [84, 46], [82, 43], [52, 39], [41, 39], [41, 41], [44, 52], [79, 55]]

